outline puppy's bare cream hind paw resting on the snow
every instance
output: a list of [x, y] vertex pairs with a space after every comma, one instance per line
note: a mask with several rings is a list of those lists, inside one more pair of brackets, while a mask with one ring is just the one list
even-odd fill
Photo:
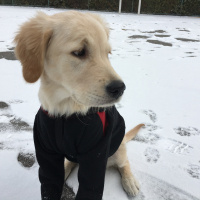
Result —
[[134, 177], [122, 178], [122, 186], [128, 196], [136, 196], [139, 193], [139, 183]]

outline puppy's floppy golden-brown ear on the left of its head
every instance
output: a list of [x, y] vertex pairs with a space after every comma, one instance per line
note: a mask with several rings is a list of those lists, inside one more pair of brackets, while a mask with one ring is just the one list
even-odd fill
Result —
[[24, 79], [29, 83], [36, 82], [43, 72], [47, 46], [53, 34], [49, 24], [50, 17], [39, 12], [21, 26], [14, 39], [15, 55], [23, 66]]

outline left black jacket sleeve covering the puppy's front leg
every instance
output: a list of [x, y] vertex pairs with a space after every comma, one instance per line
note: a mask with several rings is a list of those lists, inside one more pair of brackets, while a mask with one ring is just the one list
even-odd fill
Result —
[[[37, 119], [36, 119], [37, 120]], [[39, 163], [42, 200], [60, 200], [64, 184], [64, 156], [49, 151], [42, 143], [35, 120], [34, 143]]]

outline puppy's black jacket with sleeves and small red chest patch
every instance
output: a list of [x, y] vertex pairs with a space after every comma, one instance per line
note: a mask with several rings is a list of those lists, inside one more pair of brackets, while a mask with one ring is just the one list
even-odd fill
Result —
[[35, 117], [34, 143], [42, 200], [60, 200], [64, 158], [79, 163], [76, 200], [101, 200], [107, 159], [117, 151], [124, 134], [124, 119], [114, 106], [70, 117], [51, 117], [40, 108]]

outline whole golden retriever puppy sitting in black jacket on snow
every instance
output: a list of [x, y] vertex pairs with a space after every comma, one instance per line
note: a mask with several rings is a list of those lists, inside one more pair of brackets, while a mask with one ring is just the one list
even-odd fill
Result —
[[[39, 12], [15, 37], [24, 79], [41, 83], [34, 142], [42, 199], [60, 199], [64, 173], [67, 178], [75, 163], [77, 200], [102, 199], [106, 165], [118, 168], [128, 195], [138, 194], [125, 144], [143, 124], [124, 137], [123, 118], [114, 104], [125, 85], [110, 64], [108, 40], [109, 28], [98, 15], [76, 11], [52, 16]], [[115, 124], [112, 129], [110, 124]]]

